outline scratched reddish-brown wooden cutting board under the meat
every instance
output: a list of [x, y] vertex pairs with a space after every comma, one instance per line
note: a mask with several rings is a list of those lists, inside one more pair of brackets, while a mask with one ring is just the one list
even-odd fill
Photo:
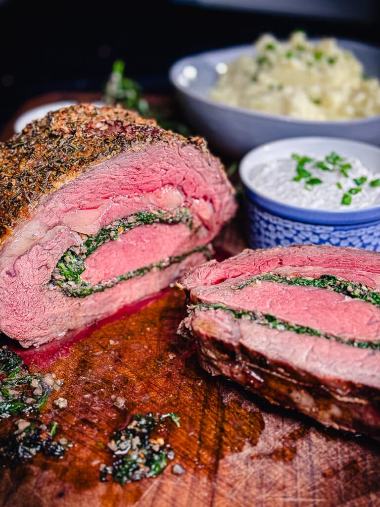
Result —
[[[241, 248], [234, 229], [223, 242]], [[24, 353], [32, 371], [64, 379], [59, 396], [68, 407], [56, 409], [53, 395], [42, 415], [59, 423], [73, 447], [63, 459], [37, 456], [15, 470], [1, 469], [3, 506], [380, 505], [377, 443], [325, 429], [211, 377], [176, 334], [184, 315], [183, 295], [171, 289], [72, 344]], [[112, 396], [123, 397], [125, 409]], [[100, 445], [137, 412], [178, 413], [181, 427], [168, 424], [167, 433], [174, 460], [153, 479], [101, 483], [99, 465], [110, 464], [111, 456]], [[172, 473], [174, 463], [183, 475]]]

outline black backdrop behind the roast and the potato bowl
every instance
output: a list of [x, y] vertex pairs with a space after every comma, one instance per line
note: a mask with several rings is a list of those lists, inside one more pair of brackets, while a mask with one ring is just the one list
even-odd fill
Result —
[[0, 128], [35, 95], [100, 90], [117, 58], [146, 91], [168, 92], [167, 71], [179, 57], [249, 43], [265, 31], [284, 38], [296, 28], [380, 45], [375, 12], [345, 21], [165, 1], [0, 0]]

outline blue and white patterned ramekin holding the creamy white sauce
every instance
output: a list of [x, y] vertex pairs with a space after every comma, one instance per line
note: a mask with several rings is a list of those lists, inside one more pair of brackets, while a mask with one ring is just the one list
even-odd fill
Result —
[[292, 153], [324, 157], [331, 151], [358, 158], [372, 172], [380, 171], [379, 148], [334, 137], [282, 139], [263, 144], [242, 159], [239, 172], [245, 190], [247, 241], [251, 248], [314, 243], [380, 251], [380, 206], [338, 211], [302, 208], [265, 197], [252, 185], [252, 171], [262, 163], [288, 158]]

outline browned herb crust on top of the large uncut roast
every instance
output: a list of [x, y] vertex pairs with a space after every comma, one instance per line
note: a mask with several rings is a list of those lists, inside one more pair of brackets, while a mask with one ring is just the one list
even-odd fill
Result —
[[202, 138], [167, 131], [121, 105], [86, 103], [50, 112], [0, 142], [0, 246], [37, 203], [92, 165], [158, 142], [206, 151]]

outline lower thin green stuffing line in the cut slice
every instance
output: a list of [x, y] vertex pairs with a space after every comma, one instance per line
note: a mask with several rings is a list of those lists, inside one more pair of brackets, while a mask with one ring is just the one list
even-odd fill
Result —
[[380, 350], [380, 343], [373, 342], [365, 342], [365, 341], [356, 341], [356, 340], [344, 340], [343, 338], [330, 335], [327, 333], [321, 333], [314, 328], [309, 328], [307, 326], [298, 325], [295, 323], [289, 323], [285, 320], [279, 319], [275, 315], [270, 313], [261, 313], [258, 310], [234, 310], [228, 306], [222, 305], [221, 303], [197, 303], [194, 306], [189, 308], [190, 312], [195, 312], [197, 310], [208, 311], [208, 310], [223, 310], [226, 312], [230, 312], [237, 319], [248, 319], [254, 320], [257, 324], [268, 326], [272, 329], [277, 329], [279, 331], [294, 331], [294, 333], [300, 335], [309, 335], [309, 336], [317, 336], [320, 338], [326, 338], [327, 340], [335, 340], [337, 342], [343, 343], [345, 345], [351, 345], [359, 348], [368, 348], [372, 350]]

